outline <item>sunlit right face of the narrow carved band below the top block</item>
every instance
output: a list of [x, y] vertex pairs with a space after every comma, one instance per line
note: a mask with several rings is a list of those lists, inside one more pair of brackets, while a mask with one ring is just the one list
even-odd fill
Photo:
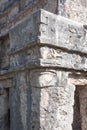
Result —
[[87, 58], [79, 54], [54, 49], [52, 47], [41, 47], [41, 66], [55, 66], [75, 70], [87, 70]]

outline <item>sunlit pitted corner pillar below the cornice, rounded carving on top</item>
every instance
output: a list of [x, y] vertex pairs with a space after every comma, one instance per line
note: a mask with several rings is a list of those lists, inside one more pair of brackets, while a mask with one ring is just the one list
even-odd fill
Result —
[[49, 73], [48, 70], [42, 69], [44, 71], [42, 74], [38, 71], [34, 70], [30, 73], [30, 77], [33, 77], [30, 80], [31, 129], [72, 130], [75, 86], [66, 81], [65, 72], [57, 72], [57, 83], [53, 85], [55, 79], [49, 76], [52, 70]]

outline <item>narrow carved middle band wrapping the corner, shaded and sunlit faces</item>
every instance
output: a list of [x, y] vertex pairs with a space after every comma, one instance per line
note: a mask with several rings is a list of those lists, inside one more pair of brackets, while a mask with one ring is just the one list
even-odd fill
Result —
[[15, 52], [10, 57], [11, 68], [20, 67], [37, 61], [38, 66], [42, 67], [61, 67], [73, 70], [87, 70], [87, 57], [77, 53], [68, 52], [48, 46], [35, 46], [24, 51]]

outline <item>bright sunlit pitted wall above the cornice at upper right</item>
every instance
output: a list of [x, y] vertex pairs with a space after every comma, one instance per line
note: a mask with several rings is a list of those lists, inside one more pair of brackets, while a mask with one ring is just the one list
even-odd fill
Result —
[[63, 14], [69, 19], [85, 24], [87, 20], [87, 1], [66, 0]]

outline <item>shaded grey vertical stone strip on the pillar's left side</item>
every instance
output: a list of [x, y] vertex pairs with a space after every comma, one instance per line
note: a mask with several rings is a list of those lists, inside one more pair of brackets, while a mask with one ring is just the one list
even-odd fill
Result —
[[28, 130], [28, 81], [27, 73], [21, 72], [14, 76], [13, 87], [10, 88], [10, 129], [11, 130]]

